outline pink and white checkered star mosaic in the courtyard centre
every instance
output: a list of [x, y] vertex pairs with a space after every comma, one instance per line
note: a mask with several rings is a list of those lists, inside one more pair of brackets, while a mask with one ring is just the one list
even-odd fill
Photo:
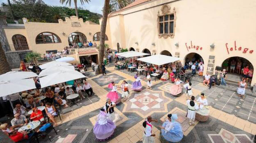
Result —
[[146, 118], [153, 112], [168, 112], [167, 104], [172, 99], [166, 97], [163, 91], [144, 90], [131, 94], [129, 101], [124, 102], [123, 112], [135, 112]]

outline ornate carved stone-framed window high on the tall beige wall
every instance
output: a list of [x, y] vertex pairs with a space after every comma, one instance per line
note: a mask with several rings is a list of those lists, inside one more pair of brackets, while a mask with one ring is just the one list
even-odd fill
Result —
[[176, 22], [176, 11], [175, 7], [172, 11], [169, 5], [163, 5], [161, 8], [161, 14], [158, 11], [158, 37], [174, 37], [174, 29]]

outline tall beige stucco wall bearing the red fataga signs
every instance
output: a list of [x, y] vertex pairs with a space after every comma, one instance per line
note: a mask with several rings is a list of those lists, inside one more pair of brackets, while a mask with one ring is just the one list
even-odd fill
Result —
[[[168, 3], [171, 7], [176, 8], [176, 28], [174, 38], [168, 37], [167, 39], [158, 38], [157, 19], [158, 11], [161, 14], [161, 8], [164, 3]], [[147, 8], [147, 9], [146, 9]], [[144, 48], [148, 48], [151, 53], [156, 50], [160, 54], [163, 50], [168, 50], [172, 56], [175, 52], [180, 53], [181, 62], [184, 63], [184, 58], [191, 52], [200, 54], [205, 61], [205, 69], [207, 68], [209, 56], [215, 56], [215, 66], [221, 66], [222, 62], [233, 56], [244, 57], [249, 60], [254, 69], [256, 67], [256, 1], [248, 0], [152, 0], [135, 6], [121, 10], [120, 12], [111, 14], [110, 33], [112, 36], [112, 45], [120, 42], [119, 31], [124, 31], [125, 47], [139, 48], [140, 52]], [[119, 29], [120, 22], [119, 16], [123, 15], [124, 29]], [[115, 37], [116, 36], [116, 37]], [[115, 37], [115, 38], [114, 38]], [[243, 53], [241, 51], [226, 50], [226, 43], [229, 47], [236, 46], [249, 48], [254, 50], [252, 54]], [[202, 50], [190, 49], [187, 50], [185, 43], [190, 45], [203, 47]], [[138, 45], [135, 44], [138, 42]], [[152, 46], [152, 43], [156, 46]], [[174, 46], [175, 43], [179, 46]], [[122, 43], [122, 44], [123, 44]], [[215, 48], [211, 49], [210, 44], [214, 43]], [[123, 45], [122, 45], [123, 47]], [[204, 70], [204, 74], [206, 70]], [[254, 77], [252, 85], [256, 82]]]

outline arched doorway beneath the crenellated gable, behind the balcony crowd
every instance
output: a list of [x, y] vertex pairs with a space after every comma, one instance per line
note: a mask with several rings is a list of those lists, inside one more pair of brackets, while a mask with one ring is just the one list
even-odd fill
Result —
[[81, 42], [82, 44], [84, 42], [87, 43], [86, 36], [81, 32], [71, 33], [68, 37], [68, 40], [69, 40], [69, 46], [71, 46], [74, 42], [77, 43], [77, 45], [78, 45], [79, 42]]

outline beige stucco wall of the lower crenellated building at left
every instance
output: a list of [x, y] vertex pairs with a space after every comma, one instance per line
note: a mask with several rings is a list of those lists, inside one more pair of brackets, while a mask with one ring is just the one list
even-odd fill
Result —
[[[80, 27], [72, 27], [72, 22], [80, 22]], [[93, 41], [93, 36], [95, 33], [100, 32], [100, 25], [90, 24], [90, 22], [83, 22], [83, 19], [78, 19], [76, 16], [71, 16], [71, 18], [65, 18], [65, 21], [59, 20], [59, 23], [40, 23], [40, 22], [24, 22], [24, 28], [5, 28], [5, 33], [7, 35], [7, 40], [9, 44], [13, 44], [12, 37], [15, 34], [24, 35], [29, 44], [30, 50], [39, 52], [40, 54], [45, 54], [46, 50], [63, 50], [65, 46], [69, 46], [68, 37], [72, 32], [83, 33], [88, 41], [92, 43], [96, 42], [99, 45], [99, 41]], [[55, 33], [61, 39], [61, 43], [49, 43], [49, 44], [36, 44], [36, 36], [42, 32], [52, 32]], [[62, 33], [65, 33], [63, 35]], [[91, 35], [89, 35], [91, 33]], [[108, 35], [107, 35], [108, 36]], [[109, 40], [105, 43], [110, 43]]]

